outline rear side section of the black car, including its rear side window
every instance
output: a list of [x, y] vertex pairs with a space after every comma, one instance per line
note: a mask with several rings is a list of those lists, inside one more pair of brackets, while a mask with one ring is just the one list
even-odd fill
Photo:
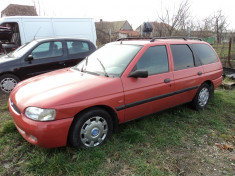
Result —
[[95, 48], [90, 46], [90, 43], [87, 41], [67, 40], [65, 43], [68, 54], [66, 65], [69, 67], [78, 64], [95, 50]]

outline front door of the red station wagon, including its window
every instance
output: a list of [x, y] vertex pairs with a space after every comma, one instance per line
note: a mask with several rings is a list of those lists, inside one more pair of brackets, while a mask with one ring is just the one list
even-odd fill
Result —
[[[147, 48], [137, 59], [131, 71], [124, 73], [122, 82], [125, 95], [125, 120], [129, 121], [171, 107], [174, 80], [166, 45]], [[128, 75], [136, 70], [147, 70], [147, 78]]]

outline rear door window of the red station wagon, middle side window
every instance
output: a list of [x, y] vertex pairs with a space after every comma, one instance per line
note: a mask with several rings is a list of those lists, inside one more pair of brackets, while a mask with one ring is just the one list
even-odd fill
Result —
[[171, 45], [174, 70], [194, 67], [193, 53], [188, 45]]

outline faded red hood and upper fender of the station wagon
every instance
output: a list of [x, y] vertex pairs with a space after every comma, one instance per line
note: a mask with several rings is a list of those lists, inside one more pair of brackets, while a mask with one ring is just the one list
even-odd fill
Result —
[[10, 97], [20, 109], [53, 108], [119, 92], [123, 92], [120, 78], [62, 69], [20, 82]]

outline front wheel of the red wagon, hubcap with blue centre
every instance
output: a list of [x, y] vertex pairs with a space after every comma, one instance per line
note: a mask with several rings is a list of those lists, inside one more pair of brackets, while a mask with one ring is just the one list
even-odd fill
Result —
[[111, 116], [103, 109], [93, 108], [75, 117], [69, 134], [73, 147], [93, 148], [104, 144], [113, 132]]

